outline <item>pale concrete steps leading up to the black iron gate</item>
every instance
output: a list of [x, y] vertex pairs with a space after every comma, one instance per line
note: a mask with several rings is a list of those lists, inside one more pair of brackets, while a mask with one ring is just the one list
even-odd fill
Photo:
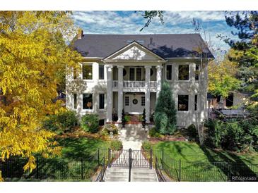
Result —
[[[104, 176], [105, 182], [128, 182], [129, 168], [107, 168]], [[149, 168], [131, 168], [131, 182], [158, 182], [156, 172]]]

